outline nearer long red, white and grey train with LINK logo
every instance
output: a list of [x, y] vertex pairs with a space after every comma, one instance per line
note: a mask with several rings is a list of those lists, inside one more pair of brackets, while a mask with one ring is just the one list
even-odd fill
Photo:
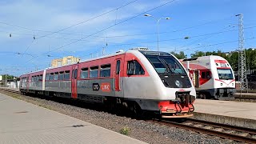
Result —
[[182, 63], [166, 52], [142, 48], [21, 77], [22, 93], [74, 98], [150, 111], [162, 118], [193, 115], [196, 92]]

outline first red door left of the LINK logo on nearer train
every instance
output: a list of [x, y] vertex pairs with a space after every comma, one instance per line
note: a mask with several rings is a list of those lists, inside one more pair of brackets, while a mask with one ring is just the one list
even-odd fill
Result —
[[72, 66], [72, 77], [71, 77], [71, 98], [78, 98], [78, 65]]

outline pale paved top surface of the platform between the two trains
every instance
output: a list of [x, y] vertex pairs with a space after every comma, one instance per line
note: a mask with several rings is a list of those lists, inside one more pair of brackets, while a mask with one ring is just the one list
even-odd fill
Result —
[[256, 120], [255, 102], [196, 99], [195, 112]]

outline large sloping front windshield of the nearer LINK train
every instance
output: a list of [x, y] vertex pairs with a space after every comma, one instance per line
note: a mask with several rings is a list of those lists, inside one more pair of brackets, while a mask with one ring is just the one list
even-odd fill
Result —
[[171, 55], [145, 55], [158, 74], [186, 74], [182, 65]]

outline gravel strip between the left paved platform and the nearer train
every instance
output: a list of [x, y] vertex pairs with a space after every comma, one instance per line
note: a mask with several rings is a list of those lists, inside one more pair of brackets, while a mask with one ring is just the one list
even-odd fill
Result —
[[[152, 122], [145, 122], [143, 120], [136, 120], [133, 118], [126, 118], [116, 114], [109, 114], [102, 110], [92, 109], [88, 107], [81, 107], [87, 105], [85, 102], [78, 102], [79, 104], [68, 105], [63, 100], [35, 98], [22, 94], [13, 94], [0, 91], [2, 94], [10, 95], [14, 98], [22, 99], [26, 102], [31, 102], [35, 105], [45, 107], [50, 110], [58, 111], [59, 113], [69, 115], [74, 118], [81, 119], [85, 122], [90, 122], [97, 126], [102, 126], [106, 129], [120, 132], [122, 128], [130, 128], [131, 138], [136, 138], [148, 143], [235, 143], [231, 140], [217, 138], [206, 134], [198, 134], [189, 130], [182, 130], [169, 126], [162, 126]], [[77, 102], [72, 102], [77, 103]]]

